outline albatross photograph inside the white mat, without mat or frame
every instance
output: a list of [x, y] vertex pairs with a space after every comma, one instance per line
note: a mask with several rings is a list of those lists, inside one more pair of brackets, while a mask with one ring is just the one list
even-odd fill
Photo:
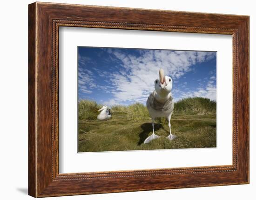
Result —
[[78, 152], [216, 148], [216, 52], [78, 46]]

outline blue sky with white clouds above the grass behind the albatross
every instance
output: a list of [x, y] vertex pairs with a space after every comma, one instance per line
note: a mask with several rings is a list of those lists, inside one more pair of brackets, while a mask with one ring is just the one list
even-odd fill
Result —
[[173, 79], [175, 101], [216, 101], [216, 52], [78, 47], [78, 98], [114, 104], [145, 104], [162, 68]]

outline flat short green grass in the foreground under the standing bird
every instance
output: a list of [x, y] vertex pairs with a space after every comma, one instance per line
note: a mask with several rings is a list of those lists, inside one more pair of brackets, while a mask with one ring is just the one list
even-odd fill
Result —
[[169, 141], [168, 123], [155, 123], [155, 134], [161, 138], [144, 144], [152, 134], [151, 120], [128, 120], [121, 113], [107, 121], [79, 123], [78, 151], [123, 151], [174, 148], [216, 147], [216, 116], [172, 117], [172, 134], [177, 138]]

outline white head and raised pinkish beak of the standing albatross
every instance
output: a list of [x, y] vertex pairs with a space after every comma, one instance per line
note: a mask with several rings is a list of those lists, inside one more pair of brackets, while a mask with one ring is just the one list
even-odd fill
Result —
[[155, 91], [160, 97], [166, 97], [172, 90], [172, 78], [164, 76], [163, 69], [159, 70], [159, 79], [155, 80]]

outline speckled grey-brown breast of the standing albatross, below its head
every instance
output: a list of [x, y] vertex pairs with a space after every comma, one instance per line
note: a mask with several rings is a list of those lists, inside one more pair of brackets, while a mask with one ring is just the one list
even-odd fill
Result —
[[156, 92], [152, 92], [147, 100], [147, 107], [151, 107], [152, 109], [156, 110], [156, 111], [161, 111], [161, 112], [166, 112], [166, 111], [173, 111], [174, 109], [174, 102], [172, 97], [170, 96], [170, 98], [168, 98], [167, 101], [165, 102], [159, 102], [156, 100], [155, 98], [156, 96]]

